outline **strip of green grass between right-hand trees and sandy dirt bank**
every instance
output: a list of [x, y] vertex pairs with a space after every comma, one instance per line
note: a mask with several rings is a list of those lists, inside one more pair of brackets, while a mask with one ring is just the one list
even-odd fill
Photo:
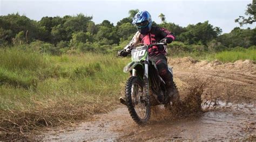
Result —
[[[185, 45], [181, 42], [173, 42], [169, 47], [169, 56], [174, 58], [190, 56], [194, 59], [212, 61], [215, 59], [221, 62], [235, 62], [236, 60], [251, 59], [256, 62], [256, 46], [251, 46], [248, 49], [235, 47], [232, 49], [222, 49], [220, 52], [211, 52], [207, 50], [205, 45]], [[221, 46], [220, 46], [221, 49]], [[219, 50], [219, 49], [215, 49]]]

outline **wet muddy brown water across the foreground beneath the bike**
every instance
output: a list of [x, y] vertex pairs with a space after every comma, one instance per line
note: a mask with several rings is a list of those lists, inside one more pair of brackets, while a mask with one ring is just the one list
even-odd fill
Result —
[[114, 140], [256, 140], [255, 104], [217, 102], [203, 105], [205, 112], [168, 118], [164, 107], [152, 112], [146, 126], [133, 122], [125, 106], [76, 128], [49, 131], [41, 140], [114, 141]]

